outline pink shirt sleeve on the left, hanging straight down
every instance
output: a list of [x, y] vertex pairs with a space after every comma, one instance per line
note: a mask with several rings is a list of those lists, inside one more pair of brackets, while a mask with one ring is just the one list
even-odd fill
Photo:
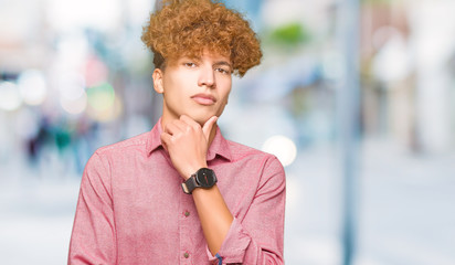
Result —
[[68, 264], [115, 264], [115, 235], [108, 161], [95, 152], [81, 181]]

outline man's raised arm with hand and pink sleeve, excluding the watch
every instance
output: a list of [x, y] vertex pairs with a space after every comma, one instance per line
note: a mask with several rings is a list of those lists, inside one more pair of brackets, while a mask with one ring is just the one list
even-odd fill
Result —
[[[182, 116], [163, 126], [165, 148], [182, 178], [207, 167], [207, 149], [215, 120], [199, 124]], [[193, 191], [209, 257], [223, 264], [283, 264], [285, 174], [274, 158], [265, 162], [255, 198], [243, 220], [232, 216], [216, 186]]]

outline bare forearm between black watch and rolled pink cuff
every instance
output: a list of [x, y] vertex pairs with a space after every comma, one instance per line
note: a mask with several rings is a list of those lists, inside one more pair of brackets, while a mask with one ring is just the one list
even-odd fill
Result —
[[216, 186], [192, 192], [199, 220], [212, 255], [215, 255], [231, 227], [233, 216]]

